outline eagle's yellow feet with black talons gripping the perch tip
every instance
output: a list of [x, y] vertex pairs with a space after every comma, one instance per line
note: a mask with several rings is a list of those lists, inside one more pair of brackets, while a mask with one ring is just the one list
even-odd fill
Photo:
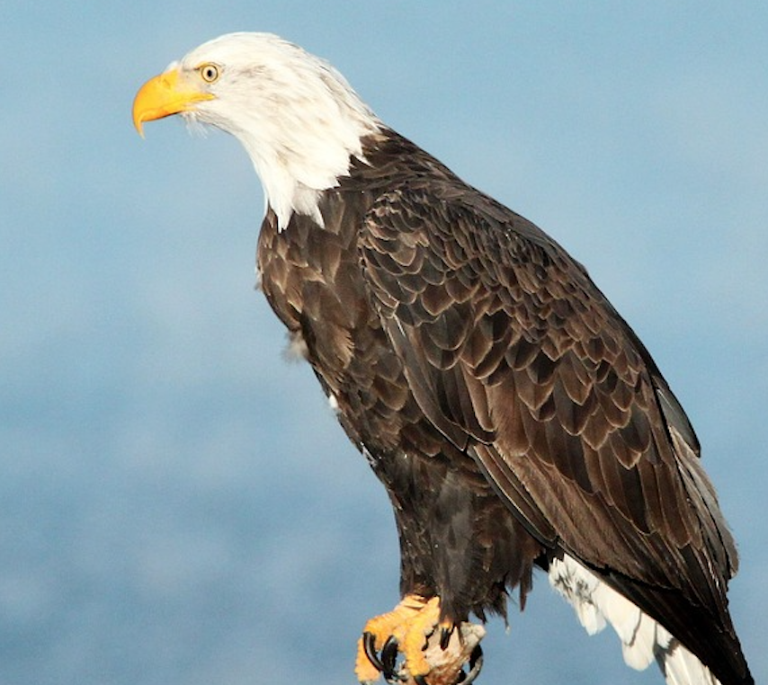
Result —
[[482, 626], [441, 620], [439, 598], [406, 595], [395, 609], [366, 623], [355, 672], [362, 683], [383, 675], [402, 685], [469, 685], [482, 668], [484, 635]]

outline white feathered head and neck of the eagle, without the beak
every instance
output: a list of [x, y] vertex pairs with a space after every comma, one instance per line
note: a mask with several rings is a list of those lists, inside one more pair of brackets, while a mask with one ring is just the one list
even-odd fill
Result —
[[337, 185], [350, 156], [362, 155], [361, 138], [381, 127], [334, 67], [270, 33], [220, 36], [172, 67], [208, 82], [214, 97], [183, 116], [240, 140], [281, 228], [294, 211], [322, 224], [319, 193]]

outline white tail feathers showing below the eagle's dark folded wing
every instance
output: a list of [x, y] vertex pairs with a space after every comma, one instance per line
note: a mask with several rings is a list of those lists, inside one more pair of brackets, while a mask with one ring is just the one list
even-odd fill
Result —
[[668, 685], [719, 685], [710, 670], [665, 627], [604, 583], [571, 556], [553, 559], [549, 583], [576, 610], [590, 635], [611, 625], [621, 640], [624, 661], [642, 671], [656, 660]]

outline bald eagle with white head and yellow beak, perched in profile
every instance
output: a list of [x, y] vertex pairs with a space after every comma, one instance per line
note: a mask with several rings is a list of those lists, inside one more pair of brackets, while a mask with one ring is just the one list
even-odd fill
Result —
[[534, 567], [625, 661], [753, 682], [728, 614], [737, 551], [691, 423], [638, 336], [539, 227], [389, 129], [271, 34], [193, 49], [136, 96], [234, 135], [263, 183], [263, 293], [395, 512], [401, 601], [366, 624], [371, 682], [446, 675], [474, 615]]

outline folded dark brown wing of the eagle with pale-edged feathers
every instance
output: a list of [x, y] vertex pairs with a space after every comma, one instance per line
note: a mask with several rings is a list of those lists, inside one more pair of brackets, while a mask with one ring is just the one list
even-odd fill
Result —
[[424, 414], [531, 533], [738, 671], [725, 597], [737, 554], [691, 425], [585, 270], [442, 180], [382, 195], [362, 258]]

